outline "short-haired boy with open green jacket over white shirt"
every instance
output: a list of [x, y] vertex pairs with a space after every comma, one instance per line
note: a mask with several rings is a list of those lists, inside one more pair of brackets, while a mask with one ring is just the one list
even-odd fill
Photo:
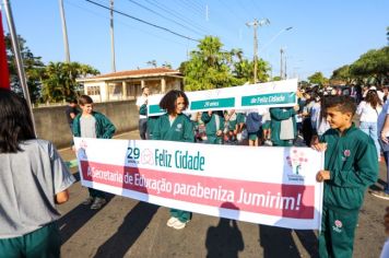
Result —
[[[109, 119], [98, 112], [93, 110], [93, 99], [87, 95], [81, 95], [79, 105], [82, 113], [73, 121], [74, 137], [110, 139], [115, 133], [115, 126]], [[91, 206], [92, 210], [101, 209], [105, 203], [105, 192], [87, 188], [90, 196], [83, 204]]]

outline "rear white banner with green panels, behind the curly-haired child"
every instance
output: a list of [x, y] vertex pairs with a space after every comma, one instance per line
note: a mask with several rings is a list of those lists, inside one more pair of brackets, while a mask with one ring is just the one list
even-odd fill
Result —
[[[189, 106], [186, 113], [205, 110], [252, 109], [258, 106], [286, 107], [297, 103], [297, 79], [257, 83], [244, 86], [223, 87], [209, 91], [186, 92]], [[151, 95], [148, 101], [149, 116], [160, 116], [164, 95]]]

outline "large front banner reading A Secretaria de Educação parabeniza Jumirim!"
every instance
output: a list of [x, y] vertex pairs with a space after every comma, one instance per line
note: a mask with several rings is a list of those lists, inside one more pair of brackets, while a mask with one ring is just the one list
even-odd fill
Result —
[[320, 226], [323, 154], [75, 138], [82, 185], [196, 213], [290, 228]]

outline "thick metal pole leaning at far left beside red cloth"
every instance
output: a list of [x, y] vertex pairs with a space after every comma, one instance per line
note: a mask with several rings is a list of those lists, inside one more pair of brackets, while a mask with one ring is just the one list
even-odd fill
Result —
[[31, 105], [31, 99], [30, 99], [27, 80], [26, 80], [26, 75], [25, 75], [25, 71], [24, 71], [22, 55], [21, 55], [21, 50], [19, 47], [20, 45], [19, 45], [19, 40], [17, 40], [17, 34], [16, 34], [15, 25], [13, 23], [12, 10], [11, 10], [11, 4], [10, 4], [9, 0], [4, 0], [4, 9], [5, 9], [7, 22], [8, 22], [8, 26], [9, 26], [10, 35], [11, 35], [12, 49], [13, 49], [13, 54], [15, 55], [19, 81], [22, 85], [24, 98], [27, 102], [27, 105], [30, 107], [31, 119], [33, 121], [33, 127], [34, 127], [33, 129], [34, 129], [34, 133], [36, 136], [35, 120], [34, 120], [33, 107]]

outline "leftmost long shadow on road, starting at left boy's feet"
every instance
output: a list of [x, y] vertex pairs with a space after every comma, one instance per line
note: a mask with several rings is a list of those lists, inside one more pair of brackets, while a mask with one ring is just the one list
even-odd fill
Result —
[[[106, 194], [107, 203], [114, 195]], [[104, 209], [104, 208], [103, 208]], [[99, 210], [91, 210], [90, 206], [79, 204], [58, 220], [62, 245], [78, 232], [87, 221], [90, 221]]]

